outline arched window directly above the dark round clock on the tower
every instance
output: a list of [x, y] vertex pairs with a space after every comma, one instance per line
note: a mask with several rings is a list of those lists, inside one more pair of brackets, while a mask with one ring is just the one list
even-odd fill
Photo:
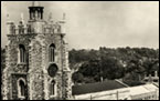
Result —
[[49, 61], [50, 62], [54, 62], [54, 57], [55, 57], [54, 50], [55, 50], [55, 46], [52, 43], [49, 48]]

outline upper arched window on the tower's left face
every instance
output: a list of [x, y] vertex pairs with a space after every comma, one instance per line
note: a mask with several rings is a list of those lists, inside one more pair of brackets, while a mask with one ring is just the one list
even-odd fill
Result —
[[20, 44], [19, 46], [19, 59], [20, 59], [20, 62], [21, 63], [24, 63], [25, 62], [25, 48], [24, 48], [24, 46], [23, 44]]

